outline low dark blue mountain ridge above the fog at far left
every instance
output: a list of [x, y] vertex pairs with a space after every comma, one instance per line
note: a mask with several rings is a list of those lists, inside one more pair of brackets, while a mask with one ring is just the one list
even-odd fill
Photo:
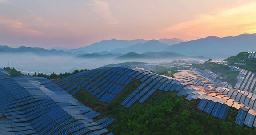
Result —
[[0, 53], [32, 53], [36, 55], [75, 55], [72, 52], [64, 52], [62, 50], [47, 50], [44, 48], [32, 48], [32, 47], [18, 47], [18, 48], [11, 48], [8, 46], [0, 46]]

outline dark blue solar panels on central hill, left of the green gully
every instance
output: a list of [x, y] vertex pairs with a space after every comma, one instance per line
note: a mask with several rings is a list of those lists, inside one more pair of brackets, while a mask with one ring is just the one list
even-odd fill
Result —
[[71, 95], [85, 90], [100, 101], [110, 103], [132, 81], [132, 75], [136, 71], [142, 69], [101, 67], [69, 76], [56, 83]]

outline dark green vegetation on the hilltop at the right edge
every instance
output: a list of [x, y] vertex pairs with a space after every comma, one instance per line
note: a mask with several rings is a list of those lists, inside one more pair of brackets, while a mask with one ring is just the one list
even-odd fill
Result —
[[225, 59], [224, 61], [228, 61], [228, 65], [238, 66], [234, 65], [235, 62], [241, 62], [246, 63], [245, 66], [239, 66], [240, 68], [252, 72], [256, 72], [256, 59], [255, 58], [248, 58], [249, 54], [247, 52], [241, 52], [237, 54], [236, 56], [231, 56]]

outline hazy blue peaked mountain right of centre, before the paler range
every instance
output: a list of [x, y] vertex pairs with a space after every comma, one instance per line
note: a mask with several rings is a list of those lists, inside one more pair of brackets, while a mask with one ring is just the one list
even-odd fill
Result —
[[110, 52], [118, 52], [118, 53], [128, 53], [128, 52], [136, 52], [136, 53], [144, 53], [144, 52], [160, 52], [165, 51], [169, 45], [165, 43], [161, 43], [158, 40], [149, 40], [145, 43], [138, 43], [126, 48], [113, 49]]

